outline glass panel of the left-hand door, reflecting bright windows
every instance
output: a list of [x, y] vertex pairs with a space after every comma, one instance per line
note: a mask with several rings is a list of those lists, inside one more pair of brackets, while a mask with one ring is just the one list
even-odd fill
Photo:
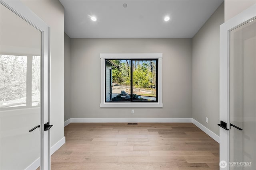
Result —
[[40, 162], [42, 33], [0, 4], [0, 169]]

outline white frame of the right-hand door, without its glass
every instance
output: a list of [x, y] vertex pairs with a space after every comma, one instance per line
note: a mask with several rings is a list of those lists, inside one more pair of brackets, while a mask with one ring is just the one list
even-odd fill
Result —
[[[220, 121], [227, 123], [227, 129], [230, 129], [230, 31], [253, 19], [256, 19], [256, 4], [220, 25]], [[229, 135], [229, 130], [220, 128], [220, 162], [227, 163], [221, 170], [230, 169]]]

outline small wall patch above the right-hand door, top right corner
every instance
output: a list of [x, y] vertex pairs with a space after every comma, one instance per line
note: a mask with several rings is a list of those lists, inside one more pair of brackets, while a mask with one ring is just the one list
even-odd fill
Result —
[[225, 21], [243, 12], [253, 4], [256, 4], [256, 0], [225, 0]]

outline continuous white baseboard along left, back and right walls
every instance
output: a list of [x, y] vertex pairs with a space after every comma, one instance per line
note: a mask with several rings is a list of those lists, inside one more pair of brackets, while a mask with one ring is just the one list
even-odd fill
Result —
[[194, 123], [199, 129], [204, 131], [216, 142], [220, 143], [220, 137], [210, 131], [207, 127], [193, 118], [70, 118], [65, 121], [65, 126], [69, 123]]

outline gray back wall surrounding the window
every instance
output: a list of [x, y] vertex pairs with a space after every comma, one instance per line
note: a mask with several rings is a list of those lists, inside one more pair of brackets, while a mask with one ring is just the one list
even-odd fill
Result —
[[[100, 108], [100, 53], [163, 53], [162, 108]], [[192, 117], [191, 39], [71, 39], [71, 117]]]

